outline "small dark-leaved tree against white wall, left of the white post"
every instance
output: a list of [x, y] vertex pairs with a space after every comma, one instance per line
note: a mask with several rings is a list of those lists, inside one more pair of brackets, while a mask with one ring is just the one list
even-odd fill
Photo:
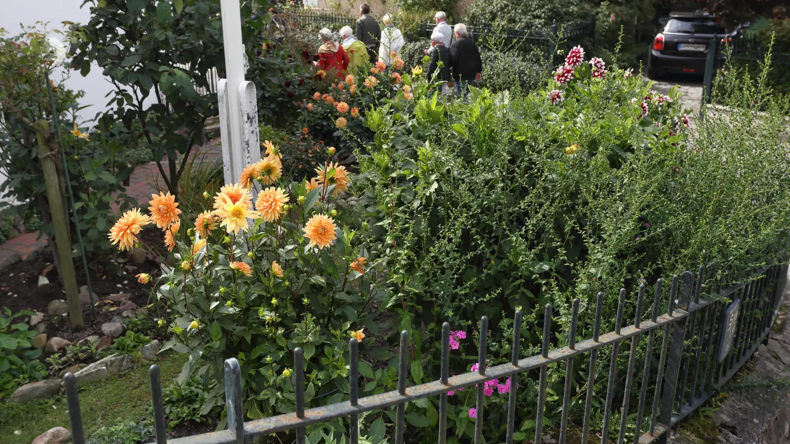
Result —
[[[201, 96], [195, 87], [209, 87], [209, 70], [224, 72], [220, 3], [89, 2], [88, 24], [72, 27], [72, 66], [86, 75], [96, 62], [111, 78], [115, 90], [107, 104], [115, 107], [107, 114], [127, 127], [139, 122], [167, 189], [178, 198], [190, 152], [204, 141], [206, 119], [218, 114], [216, 94]], [[250, 6], [246, 9], [243, 17], [250, 16]], [[249, 27], [245, 31], [254, 38]], [[147, 104], [150, 95], [154, 100]]]

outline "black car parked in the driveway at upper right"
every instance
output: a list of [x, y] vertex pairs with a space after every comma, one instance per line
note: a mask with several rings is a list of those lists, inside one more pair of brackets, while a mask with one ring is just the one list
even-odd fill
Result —
[[670, 13], [664, 30], [653, 39], [647, 62], [647, 76], [665, 73], [705, 73], [705, 58], [711, 39], [732, 38], [709, 13]]

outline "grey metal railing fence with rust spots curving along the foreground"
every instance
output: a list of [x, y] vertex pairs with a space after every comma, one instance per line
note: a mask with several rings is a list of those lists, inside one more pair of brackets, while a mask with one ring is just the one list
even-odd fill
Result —
[[[565, 390], [562, 397], [562, 421], [559, 425], [559, 443], [564, 444], [569, 430], [570, 398], [574, 393], [574, 360], [589, 356], [589, 376], [586, 381], [585, 409], [581, 420], [574, 423], [581, 426], [581, 442], [586, 444], [591, 434], [596, 432], [591, 427], [592, 397], [596, 368], [599, 355], [604, 347], [611, 347], [607, 393], [604, 401], [603, 427], [600, 430], [600, 442], [609, 440], [610, 423], [612, 421], [613, 399], [615, 395], [622, 399], [619, 435], [613, 441], [622, 443], [626, 440], [626, 426], [630, 425], [631, 404], [636, 402], [634, 418], [636, 433], [633, 442], [648, 444], [656, 439], [666, 442], [670, 429], [683, 420], [695, 408], [719, 389], [735, 371], [757, 350], [759, 344], [769, 332], [777, 314], [777, 307], [784, 293], [784, 284], [788, 273], [787, 265], [773, 265], [755, 273], [742, 284], [720, 288], [709, 279], [714, 273], [705, 273], [700, 267], [699, 273], [689, 271], [682, 276], [672, 278], [668, 292], [668, 300], [662, 302], [664, 294], [662, 280], [654, 284], [652, 310], [649, 318], [643, 320], [645, 307], [645, 284], [638, 288], [635, 307], [634, 324], [623, 326], [623, 312], [626, 307], [626, 289], [619, 292], [619, 304], [615, 330], [600, 334], [604, 294], [597, 295], [596, 313], [592, 337], [577, 341], [577, 321], [579, 300], [575, 299], [570, 319], [570, 329], [559, 331], [566, 334], [568, 344], [565, 347], [551, 349], [552, 309], [545, 307], [543, 344], [539, 355], [521, 358], [519, 344], [521, 339], [521, 311], [515, 313], [513, 323], [513, 348], [510, 363], [486, 367], [487, 361], [487, 329], [488, 320], [483, 317], [480, 322], [480, 347], [478, 353], [478, 371], [468, 372], [459, 376], [449, 377], [450, 373], [450, 325], [442, 325], [442, 373], [438, 381], [408, 386], [408, 333], [401, 333], [401, 354], [397, 390], [374, 396], [359, 398], [359, 351], [356, 339], [351, 340], [349, 347], [349, 378], [350, 393], [348, 401], [329, 404], [322, 407], [306, 409], [304, 383], [304, 356], [301, 348], [294, 350], [295, 357], [295, 412], [272, 416], [261, 420], [244, 422], [242, 407], [242, 386], [239, 363], [236, 359], [227, 359], [224, 364], [225, 397], [228, 429], [194, 435], [186, 438], [167, 439], [167, 422], [164, 418], [162, 390], [160, 386], [159, 367], [152, 365], [150, 369], [151, 392], [153, 400], [154, 422], [156, 424], [156, 442], [164, 444], [209, 444], [251, 442], [260, 435], [270, 435], [280, 431], [296, 430], [296, 444], [305, 442], [305, 427], [316, 423], [327, 422], [337, 418], [349, 418], [349, 437], [351, 444], [359, 442], [359, 414], [381, 410], [395, 406], [397, 422], [395, 423], [394, 441], [404, 442], [405, 402], [420, 398], [439, 397], [438, 442], [446, 443], [447, 401], [449, 390], [477, 386], [476, 423], [474, 442], [482, 441], [483, 418], [485, 413], [483, 382], [496, 378], [523, 374], [527, 371], [539, 371], [537, 410], [535, 420], [535, 443], [540, 444], [544, 433], [544, 408], [547, 391], [547, 374], [552, 364], [565, 363]], [[666, 300], [666, 299], [664, 299]], [[664, 314], [659, 314], [660, 307], [667, 307]], [[646, 310], [645, 310], [646, 311]], [[639, 344], [647, 335], [645, 355], [642, 357], [643, 369], [638, 376], [637, 384], [634, 370], [637, 368]], [[661, 340], [656, 352], [657, 340]], [[630, 342], [630, 356], [622, 383], [622, 372], [619, 372], [619, 347], [626, 341]], [[657, 359], [657, 366], [654, 364]], [[552, 366], [561, 371], [561, 365]], [[657, 367], [657, 368], [653, 368]], [[655, 373], [653, 372], [655, 370]], [[555, 370], [551, 370], [555, 371]], [[653, 378], [653, 374], [656, 377]], [[517, 378], [516, 378], [517, 379]], [[76, 444], [85, 442], [81, 423], [80, 405], [77, 398], [77, 382], [73, 374], [66, 374], [66, 398], [72, 427], [73, 441]], [[636, 390], [639, 390], [638, 394]], [[580, 392], [581, 394], [581, 392]], [[652, 406], [646, 401], [652, 395]], [[513, 430], [517, 412], [517, 384], [511, 384], [508, 400], [506, 442], [513, 442]], [[646, 411], [649, 409], [649, 412]], [[615, 426], [616, 424], [611, 424]], [[612, 436], [614, 438], [614, 436]]]

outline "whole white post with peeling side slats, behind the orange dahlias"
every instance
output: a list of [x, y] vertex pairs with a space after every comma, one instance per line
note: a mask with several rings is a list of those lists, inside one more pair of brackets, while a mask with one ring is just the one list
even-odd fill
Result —
[[220, 0], [225, 75], [216, 85], [220, 106], [222, 161], [225, 183], [239, 182], [247, 164], [261, 160], [258, 140], [258, 100], [255, 85], [244, 80], [244, 45], [239, 0]]

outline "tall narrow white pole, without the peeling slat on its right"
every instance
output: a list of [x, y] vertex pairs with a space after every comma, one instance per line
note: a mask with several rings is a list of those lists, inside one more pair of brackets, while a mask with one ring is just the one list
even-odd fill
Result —
[[[242, 153], [242, 116], [239, 107], [239, 85], [244, 81], [244, 46], [242, 43], [242, 17], [239, 0], [220, 0], [222, 8], [222, 36], [225, 49], [225, 75], [227, 76], [225, 103], [227, 125], [221, 126], [222, 143], [228, 143], [229, 159], [224, 159], [225, 179], [239, 181], [245, 164]], [[220, 103], [222, 106], [222, 103]], [[224, 149], [225, 151], [225, 149]], [[228, 162], [229, 161], [229, 162]], [[229, 163], [229, 164], [228, 164]], [[228, 177], [230, 176], [230, 178]]]

